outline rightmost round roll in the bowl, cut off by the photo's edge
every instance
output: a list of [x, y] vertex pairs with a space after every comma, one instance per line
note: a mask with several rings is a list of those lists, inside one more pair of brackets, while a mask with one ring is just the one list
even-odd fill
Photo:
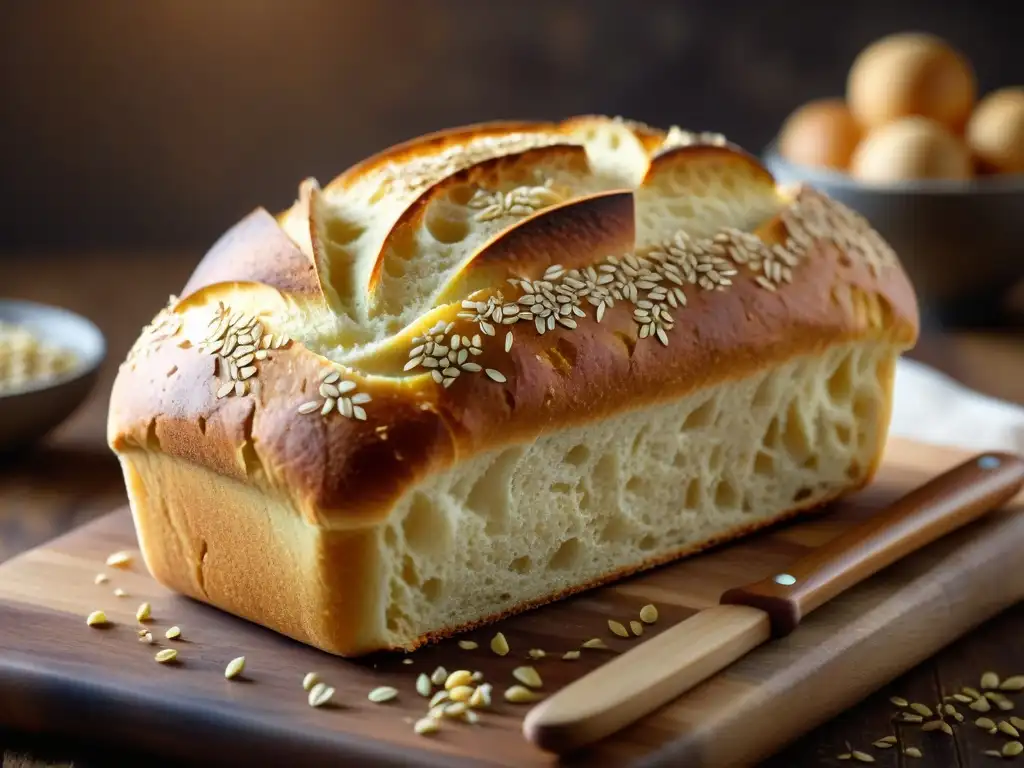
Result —
[[1024, 87], [985, 96], [968, 123], [967, 142], [981, 170], [1024, 173]]

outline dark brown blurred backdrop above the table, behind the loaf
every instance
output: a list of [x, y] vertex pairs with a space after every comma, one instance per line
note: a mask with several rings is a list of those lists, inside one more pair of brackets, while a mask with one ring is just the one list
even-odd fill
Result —
[[760, 152], [890, 32], [946, 38], [982, 91], [1024, 82], [1014, 5], [0, 0], [0, 252], [198, 255], [303, 176], [501, 117], [625, 115]]

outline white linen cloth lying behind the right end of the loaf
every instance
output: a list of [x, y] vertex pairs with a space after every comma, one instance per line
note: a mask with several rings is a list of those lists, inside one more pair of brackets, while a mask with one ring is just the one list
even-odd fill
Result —
[[902, 358], [890, 434], [977, 451], [1024, 452], [1024, 408], [968, 389]]

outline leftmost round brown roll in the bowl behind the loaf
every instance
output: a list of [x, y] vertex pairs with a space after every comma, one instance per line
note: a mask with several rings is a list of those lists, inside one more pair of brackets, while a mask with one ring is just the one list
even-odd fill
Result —
[[841, 98], [810, 101], [782, 125], [779, 152], [800, 165], [845, 171], [860, 141], [860, 128]]

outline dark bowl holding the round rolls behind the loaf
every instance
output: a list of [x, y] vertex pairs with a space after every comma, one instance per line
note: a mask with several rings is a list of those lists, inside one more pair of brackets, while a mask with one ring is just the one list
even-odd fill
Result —
[[866, 217], [945, 325], [995, 322], [999, 297], [1024, 278], [1024, 175], [872, 185], [790, 163], [775, 145], [764, 162], [778, 182], [806, 182]]

